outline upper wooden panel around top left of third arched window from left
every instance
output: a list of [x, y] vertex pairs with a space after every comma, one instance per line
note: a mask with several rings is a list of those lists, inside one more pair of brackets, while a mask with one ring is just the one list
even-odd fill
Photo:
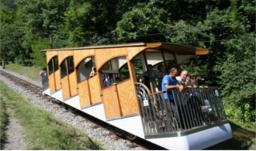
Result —
[[85, 59], [85, 57], [94, 55], [94, 50], [74, 50], [74, 67], [77, 67], [78, 63]]

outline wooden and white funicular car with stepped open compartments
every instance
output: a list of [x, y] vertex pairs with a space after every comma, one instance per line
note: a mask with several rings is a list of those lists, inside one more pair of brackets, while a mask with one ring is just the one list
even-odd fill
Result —
[[[161, 79], [145, 77], [149, 84], [139, 82], [139, 68], [144, 72], [148, 64], [162, 63], [167, 69], [171, 61], [180, 73], [185, 60], [209, 50], [177, 43], [129, 43], [41, 52], [47, 55], [49, 84], [43, 94], [134, 136], [166, 149], [205, 149], [232, 137], [218, 88], [172, 91], [178, 110], [175, 118], [169, 101], [163, 101], [166, 91], [155, 91]], [[92, 67], [97, 74], [89, 77]], [[108, 76], [111, 84], [106, 86]], [[198, 93], [197, 99], [190, 97], [193, 92]], [[210, 112], [199, 108], [206, 101]]]

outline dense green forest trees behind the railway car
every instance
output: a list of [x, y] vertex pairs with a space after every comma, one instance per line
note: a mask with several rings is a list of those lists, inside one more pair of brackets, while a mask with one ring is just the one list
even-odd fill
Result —
[[182, 69], [218, 85], [229, 118], [255, 126], [255, 0], [2, 0], [1, 58], [45, 67], [39, 50], [183, 43], [213, 53]]

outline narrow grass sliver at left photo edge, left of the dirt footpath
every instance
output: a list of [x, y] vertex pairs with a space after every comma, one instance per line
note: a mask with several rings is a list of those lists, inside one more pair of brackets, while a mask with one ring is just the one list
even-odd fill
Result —
[[0, 148], [2, 149], [5, 142], [5, 126], [8, 124], [8, 115], [5, 108], [5, 101], [0, 95]]

